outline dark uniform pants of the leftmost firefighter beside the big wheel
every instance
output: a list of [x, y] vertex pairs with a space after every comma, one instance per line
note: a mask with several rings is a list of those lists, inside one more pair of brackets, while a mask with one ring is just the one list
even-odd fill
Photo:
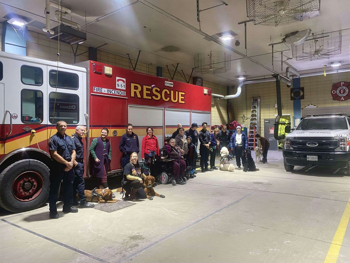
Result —
[[73, 202], [73, 181], [74, 181], [74, 169], [70, 169], [65, 172], [64, 164], [58, 164], [50, 170], [50, 190], [49, 190], [49, 208], [50, 213], [56, 213], [57, 207], [57, 195], [59, 186], [63, 179], [62, 187], [63, 191], [63, 209], [69, 209]]

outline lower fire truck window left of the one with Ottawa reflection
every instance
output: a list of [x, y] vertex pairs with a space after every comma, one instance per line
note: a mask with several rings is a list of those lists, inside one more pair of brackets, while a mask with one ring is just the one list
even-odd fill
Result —
[[22, 89], [21, 105], [22, 122], [43, 121], [43, 93], [40, 90]]

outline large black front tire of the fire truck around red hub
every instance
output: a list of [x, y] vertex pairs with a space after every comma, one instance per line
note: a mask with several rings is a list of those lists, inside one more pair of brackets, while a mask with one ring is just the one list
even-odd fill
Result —
[[[21, 201], [15, 197], [13, 186], [16, 179], [26, 172], [34, 172], [38, 178], [34, 188], [33, 199]], [[25, 176], [25, 177], [30, 177]], [[17, 161], [0, 174], [0, 206], [8, 211], [20, 213], [40, 207], [49, 196], [50, 169], [42, 162], [34, 159]], [[29, 182], [29, 181], [28, 181]], [[33, 189], [33, 188], [32, 188]]]

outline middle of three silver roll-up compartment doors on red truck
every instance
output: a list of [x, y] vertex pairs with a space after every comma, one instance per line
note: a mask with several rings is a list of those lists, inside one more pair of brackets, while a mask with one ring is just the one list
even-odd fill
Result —
[[171, 137], [177, 129], [177, 124], [181, 123], [186, 130], [190, 128], [190, 111], [180, 109], [165, 109], [165, 136]]

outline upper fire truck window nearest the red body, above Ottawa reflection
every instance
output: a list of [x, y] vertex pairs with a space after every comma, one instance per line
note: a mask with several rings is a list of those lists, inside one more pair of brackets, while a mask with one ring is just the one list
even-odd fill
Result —
[[[49, 83], [52, 88], [56, 88], [57, 70], [50, 70]], [[57, 88], [62, 89], [78, 89], [79, 76], [75, 73], [64, 72], [58, 70]]]

